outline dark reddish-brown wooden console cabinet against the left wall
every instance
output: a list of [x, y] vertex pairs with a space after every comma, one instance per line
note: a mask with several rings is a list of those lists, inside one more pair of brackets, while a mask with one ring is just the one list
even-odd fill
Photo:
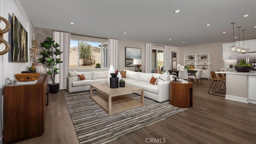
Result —
[[41, 136], [48, 103], [48, 74], [36, 84], [4, 86], [4, 144]]

